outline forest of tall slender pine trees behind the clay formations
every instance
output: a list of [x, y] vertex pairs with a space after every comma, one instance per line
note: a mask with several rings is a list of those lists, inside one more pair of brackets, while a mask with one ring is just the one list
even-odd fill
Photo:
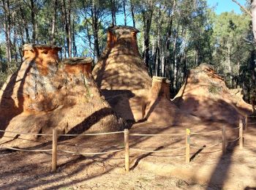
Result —
[[[238, 6], [232, 0], [234, 6]], [[243, 4], [252, 8], [251, 1]], [[94, 64], [107, 28], [134, 26], [151, 76], [167, 77], [174, 96], [189, 69], [211, 64], [229, 88], [255, 88], [255, 39], [250, 12], [217, 14], [206, 0], [1, 0], [0, 87], [22, 61], [25, 43], [62, 47], [60, 58], [87, 56]]]

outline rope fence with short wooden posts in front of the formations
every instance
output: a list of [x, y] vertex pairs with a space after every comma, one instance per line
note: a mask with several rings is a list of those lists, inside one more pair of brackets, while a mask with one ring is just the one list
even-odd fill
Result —
[[[255, 116], [256, 117], [256, 116]], [[13, 134], [30, 134], [30, 135], [39, 135], [39, 136], [52, 136], [52, 148], [51, 149], [25, 149], [25, 148], [14, 148], [14, 147], [7, 147], [7, 146], [2, 146], [0, 145], [0, 148], [5, 148], [5, 149], [10, 149], [14, 151], [28, 151], [28, 152], [52, 152], [52, 171], [56, 172], [57, 169], [57, 151], [63, 152], [63, 153], [72, 153], [72, 154], [80, 154], [80, 155], [101, 155], [101, 154], [106, 154], [106, 153], [117, 153], [120, 151], [124, 151], [124, 164], [125, 164], [125, 170], [129, 171], [129, 151], [138, 151], [138, 152], [147, 152], [147, 153], [165, 153], [165, 152], [171, 152], [171, 151], [178, 151], [178, 150], [183, 150], [185, 149], [185, 161], [188, 164], [190, 162], [190, 149], [191, 148], [197, 148], [197, 149], [207, 149], [207, 148], [213, 148], [218, 145], [222, 144], [222, 153], [225, 154], [226, 152], [226, 143], [227, 142], [236, 142], [239, 140], [239, 147], [243, 148], [244, 146], [244, 137], [243, 137], [243, 129], [245, 125], [245, 129], [248, 127], [248, 117], [246, 116], [245, 122], [242, 122], [242, 120], [239, 120], [239, 126], [233, 129], [228, 129], [228, 131], [233, 131], [236, 129], [239, 129], [239, 137], [236, 138], [235, 140], [227, 140], [226, 139], [226, 127], [223, 126], [222, 129], [219, 130], [214, 130], [214, 131], [209, 131], [209, 132], [190, 132], [190, 129], [186, 129], [186, 133], [176, 133], [176, 134], [129, 134], [128, 129], [124, 129], [124, 131], [121, 132], [105, 132], [105, 133], [92, 133], [92, 134], [58, 134], [56, 129], [53, 129], [53, 134], [37, 134], [37, 133], [25, 133], [25, 132], [10, 132], [10, 131], [4, 131], [0, 130], [0, 132], [6, 132], [6, 133], [13, 133]], [[222, 132], [222, 141], [219, 141], [215, 143], [214, 145], [203, 145], [203, 146], [197, 146], [196, 143], [192, 144], [191, 142], [191, 135], [193, 134], [212, 134], [212, 133], [217, 133], [217, 132]], [[57, 145], [58, 145], [58, 137], [63, 137], [63, 136], [69, 136], [69, 137], [78, 137], [78, 136], [92, 136], [92, 135], [105, 135], [105, 134], [124, 134], [124, 148], [119, 148], [117, 150], [112, 150], [112, 151], [101, 151], [101, 152], [83, 152], [83, 151], [67, 151], [67, 150], [58, 150]], [[168, 137], [168, 136], [184, 136], [186, 139], [186, 143], [184, 146], [180, 148], [170, 148], [168, 150], [162, 150], [162, 151], [150, 151], [146, 150], [145, 148], [129, 148], [129, 137], [130, 136], [140, 136], [140, 137]]]

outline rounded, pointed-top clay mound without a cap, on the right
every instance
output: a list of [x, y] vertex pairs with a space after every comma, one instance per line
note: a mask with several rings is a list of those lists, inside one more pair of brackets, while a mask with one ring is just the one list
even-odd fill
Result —
[[230, 93], [225, 81], [207, 64], [200, 64], [189, 72], [173, 102], [182, 111], [213, 121], [237, 123], [248, 113], [249, 104]]

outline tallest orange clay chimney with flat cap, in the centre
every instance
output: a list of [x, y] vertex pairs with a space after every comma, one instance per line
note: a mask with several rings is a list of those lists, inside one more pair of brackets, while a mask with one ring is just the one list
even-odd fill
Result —
[[92, 72], [111, 107], [127, 121], [143, 118], [152, 82], [140, 58], [137, 33], [129, 26], [108, 28], [108, 45]]

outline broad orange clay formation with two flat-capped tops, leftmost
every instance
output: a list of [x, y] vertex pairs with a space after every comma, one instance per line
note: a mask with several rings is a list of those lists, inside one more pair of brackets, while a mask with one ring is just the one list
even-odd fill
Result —
[[1, 89], [0, 129], [42, 133], [51, 133], [54, 127], [61, 133], [122, 129], [124, 121], [94, 82], [91, 59], [67, 58], [61, 63], [59, 50], [24, 45], [20, 69]]

